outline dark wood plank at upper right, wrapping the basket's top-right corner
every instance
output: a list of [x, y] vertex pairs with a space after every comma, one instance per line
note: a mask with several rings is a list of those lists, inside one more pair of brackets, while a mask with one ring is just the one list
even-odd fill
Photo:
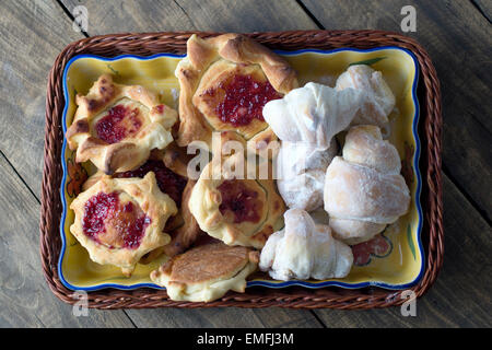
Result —
[[[490, 218], [492, 197], [492, 26], [470, 1], [302, 0], [327, 30], [401, 32], [401, 8], [417, 10], [417, 38], [442, 83], [443, 162], [453, 182]], [[489, 145], [489, 147], [488, 147]]]

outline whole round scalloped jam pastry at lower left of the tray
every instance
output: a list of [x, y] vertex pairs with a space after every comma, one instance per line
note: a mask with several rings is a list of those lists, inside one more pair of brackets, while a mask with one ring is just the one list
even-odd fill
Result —
[[75, 217], [70, 232], [91, 259], [117, 266], [126, 276], [143, 255], [171, 241], [163, 230], [177, 213], [176, 203], [159, 189], [152, 172], [143, 178], [103, 175], [70, 209]]

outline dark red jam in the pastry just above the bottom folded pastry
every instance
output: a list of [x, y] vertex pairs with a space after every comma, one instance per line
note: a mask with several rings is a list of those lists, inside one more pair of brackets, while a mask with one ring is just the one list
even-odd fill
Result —
[[218, 189], [222, 196], [219, 210], [224, 215], [227, 210], [234, 213], [234, 223], [244, 221], [258, 222], [260, 220], [262, 202], [258, 200], [258, 192], [247, 188], [242, 182], [225, 180]]

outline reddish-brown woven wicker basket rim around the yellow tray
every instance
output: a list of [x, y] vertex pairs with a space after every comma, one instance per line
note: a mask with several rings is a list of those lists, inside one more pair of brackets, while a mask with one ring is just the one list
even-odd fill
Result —
[[[42, 187], [40, 255], [43, 272], [51, 291], [62, 301], [73, 304], [78, 299], [60, 281], [57, 271], [61, 249], [59, 233], [61, 144], [63, 135], [61, 117], [65, 106], [62, 71], [75, 55], [93, 54], [115, 57], [122, 54], [150, 56], [157, 52], [184, 54], [186, 40], [194, 34], [147, 33], [102, 35], [85, 38], [67, 46], [52, 66], [46, 100], [45, 158]], [[200, 33], [212, 36], [219, 33]], [[399, 46], [414, 54], [420, 65], [421, 79], [418, 96], [421, 106], [419, 135], [422, 142], [420, 168], [423, 188], [421, 202], [424, 211], [422, 243], [425, 249], [425, 271], [412, 290], [421, 296], [435, 281], [443, 264], [444, 232], [441, 182], [441, 91], [435, 69], [429, 55], [412, 38], [397, 33], [380, 31], [291, 31], [277, 33], [246, 34], [257, 42], [276, 49], [295, 50], [301, 48], [333, 49], [340, 47], [373, 48]], [[122, 291], [106, 289], [89, 293], [89, 306], [97, 308], [120, 307], [295, 307], [295, 308], [372, 308], [399, 305], [405, 302], [402, 291], [378, 288], [348, 290], [325, 288], [318, 290], [291, 287], [285, 289], [250, 288], [246, 293], [230, 292], [224, 298], [210, 303], [176, 302], [162, 290], [138, 289]]]

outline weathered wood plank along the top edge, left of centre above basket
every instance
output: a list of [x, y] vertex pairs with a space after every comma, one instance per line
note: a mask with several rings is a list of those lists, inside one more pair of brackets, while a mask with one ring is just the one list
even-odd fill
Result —
[[[81, 4], [62, 0], [72, 12]], [[83, 2], [90, 35], [126, 32], [256, 32], [315, 28], [294, 0], [278, 1], [96, 1]]]

